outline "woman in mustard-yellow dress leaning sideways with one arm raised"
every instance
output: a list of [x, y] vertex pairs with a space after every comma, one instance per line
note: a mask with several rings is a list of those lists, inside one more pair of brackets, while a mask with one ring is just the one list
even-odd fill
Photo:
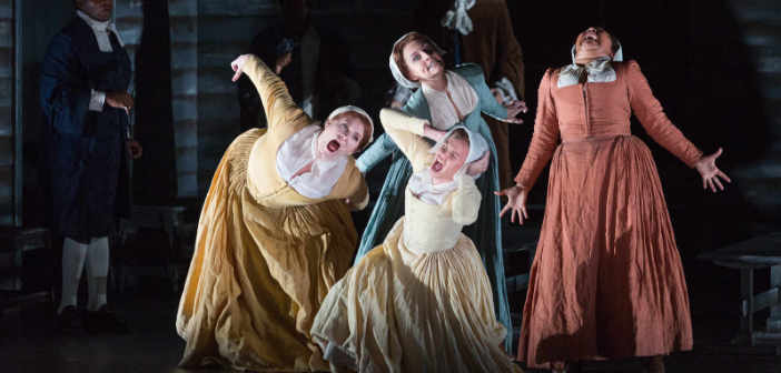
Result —
[[211, 180], [177, 313], [180, 365], [327, 370], [309, 329], [357, 244], [349, 209], [368, 192], [350, 155], [372, 119], [343, 107], [320, 127], [257, 57], [231, 68], [257, 88], [268, 129], [236, 138]]

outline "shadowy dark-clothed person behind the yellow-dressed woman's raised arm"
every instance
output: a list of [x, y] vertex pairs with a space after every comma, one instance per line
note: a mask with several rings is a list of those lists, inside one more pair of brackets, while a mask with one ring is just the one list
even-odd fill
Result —
[[[258, 33], [248, 53], [274, 69], [290, 97], [309, 118], [345, 104], [356, 104], [360, 88], [350, 75], [347, 43], [333, 32], [315, 28], [306, 0], [283, 0], [283, 23]], [[320, 97], [318, 92], [328, 92]], [[260, 98], [246, 77], [238, 81], [241, 130], [266, 127]]]

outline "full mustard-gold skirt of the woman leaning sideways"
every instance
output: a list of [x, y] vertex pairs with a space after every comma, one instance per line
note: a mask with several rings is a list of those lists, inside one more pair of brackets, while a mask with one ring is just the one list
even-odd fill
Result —
[[357, 232], [340, 201], [270, 209], [247, 190], [247, 161], [264, 130], [237, 138], [206, 196], [177, 332], [182, 366], [327, 370], [309, 329], [350, 264]]

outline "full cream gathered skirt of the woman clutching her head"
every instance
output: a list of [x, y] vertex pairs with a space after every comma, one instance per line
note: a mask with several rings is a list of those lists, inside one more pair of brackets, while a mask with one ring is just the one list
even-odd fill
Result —
[[358, 372], [520, 371], [472, 241], [417, 253], [402, 240], [404, 221], [323, 302], [312, 335], [328, 359]]

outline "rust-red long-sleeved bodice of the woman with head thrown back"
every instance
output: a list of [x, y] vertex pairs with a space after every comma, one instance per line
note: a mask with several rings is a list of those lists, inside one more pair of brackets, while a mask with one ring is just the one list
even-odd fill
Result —
[[534, 185], [560, 143], [630, 134], [634, 113], [645, 131], [689, 167], [702, 152], [664, 114], [635, 61], [613, 62], [612, 82], [557, 87], [558, 71], [548, 69], [540, 81], [534, 135], [515, 177], [524, 188]]

